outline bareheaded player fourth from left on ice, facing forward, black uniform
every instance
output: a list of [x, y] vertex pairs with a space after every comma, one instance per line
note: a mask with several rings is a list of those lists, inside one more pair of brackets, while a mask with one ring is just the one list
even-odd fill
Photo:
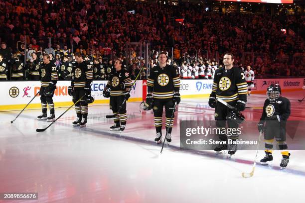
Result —
[[[154, 126], [156, 130], [156, 143], [162, 142], [162, 114], [165, 106], [165, 127], [168, 129], [166, 141], [171, 142], [171, 128], [174, 118], [170, 122], [174, 103], [180, 102], [180, 78], [179, 72], [172, 65], [166, 65], [166, 53], [161, 52], [158, 56], [159, 65], [151, 70], [151, 75], [147, 80], [148, 94], [146, 102], [153, 104]], [[152, 95], [153, 94], [153, 95]]]

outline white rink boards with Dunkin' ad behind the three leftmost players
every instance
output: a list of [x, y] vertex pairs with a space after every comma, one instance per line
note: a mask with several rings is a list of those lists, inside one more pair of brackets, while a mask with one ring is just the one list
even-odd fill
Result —
[[[56, 102], [71, 102], [72, 97], [68, 95], [68, 87], [70, 81], [58, 81], [54, 92], [53, 101]], [[95, 101], [109, 100], [103, 97], [103, 90], [106, 87], [107, 81], [93, 81], [91, 84], [91, 95]], [[39, 81], [20, 81], [20, 82], [1, 82], [0, 109], [2, 105], [26, 104], [40, 90]], [[137, 81], [130, 92], [131, 98], [142, 99], [142, 81]], [[32, 103], [40, 103], [39, 95]]]

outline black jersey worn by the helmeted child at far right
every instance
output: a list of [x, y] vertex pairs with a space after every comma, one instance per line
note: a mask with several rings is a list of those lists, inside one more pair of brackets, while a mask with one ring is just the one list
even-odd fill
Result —
[[287, 98], [279, 97], [275, 102], [266, 100], [260, 120], [286, 121], [290, 116], [290, 101]]

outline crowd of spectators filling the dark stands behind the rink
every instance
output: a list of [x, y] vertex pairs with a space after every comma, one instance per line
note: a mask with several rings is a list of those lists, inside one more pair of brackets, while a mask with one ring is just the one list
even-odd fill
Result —
[[[184, 21], [177, 23], [175, 18]], [[221, 65], [225, 52], [232, 52], [236, 65], [252, 65], [257, 74], [304, 76], [304, 39], [293, 32], [304, 29], [304, 18], [206, 12], [188, 2], [175, 6], [135, 0], [0, 0], [0, 54], [7, 64], [12, 56], [25, 59], [25, 70], [33, 52], [38, 58], [51, 54], [60, 69], [64, 55], [73, 62], [73, 53], [80, 51], [88, 60], [97, 58], [106, 70], [119, 58], [132, 77], [144, 67], [145, 78], [157, 63], [158, 51], [170, 57], [173, 50], [170, 63], [180, 70], [204, 65], [210, 71], [219, 67], [217, 62]], [[138, 49], [127, 51], [131, 42], [150, 44], [148, 67]]]

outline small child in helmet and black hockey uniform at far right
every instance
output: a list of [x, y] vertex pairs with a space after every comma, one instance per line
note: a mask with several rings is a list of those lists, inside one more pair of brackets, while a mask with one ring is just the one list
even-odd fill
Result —
[[290, 115], [290, 101], [281, 97], [281, 87], [273, 84], [267, 88], [267, 98], [260, 122], [257, 124], [258, 130], [264, 131], [266, 156], [261, 160], [262, 165], [267, 165], [273, 160], [273, 141], [279, 144], [283, 156], [280, 167], [286, 168], [289, 162], [290, 153], [286, 143], [286, 121]]

